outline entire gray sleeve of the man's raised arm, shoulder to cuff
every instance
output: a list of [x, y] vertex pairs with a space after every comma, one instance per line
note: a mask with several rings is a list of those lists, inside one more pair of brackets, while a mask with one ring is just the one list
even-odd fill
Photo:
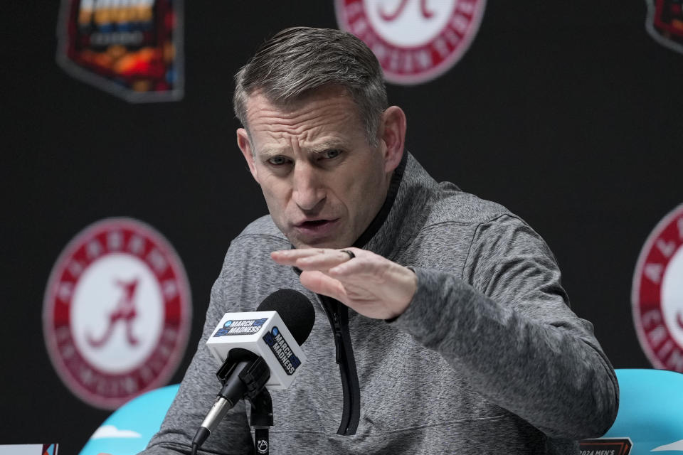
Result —
[[504, 215], [478, 226], [462, 274], [415, 268], [418, 289], [396, 324], [463, 370], [487, 400], [547, 436], [604, 434], [618, 383], [590, 322], [568, 306], [545, 242]]

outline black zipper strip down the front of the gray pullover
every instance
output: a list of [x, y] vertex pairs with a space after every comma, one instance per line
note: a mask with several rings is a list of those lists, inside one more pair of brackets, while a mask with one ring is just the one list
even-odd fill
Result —
[[354, 350], [351, 346], [351, 335], [349, 333], [349, 311], [341, 302], [330, 297], [320, 296], [320, 300], [334, 332], [335, 358], [339, 365], [339, 374], [342, 377], [344, 407], [342, 410], [342, 422], [339, 424], [337, 434], [351, 436], [356, 434], [356, 429], [358, 429], [361, 411], [361, 392]]

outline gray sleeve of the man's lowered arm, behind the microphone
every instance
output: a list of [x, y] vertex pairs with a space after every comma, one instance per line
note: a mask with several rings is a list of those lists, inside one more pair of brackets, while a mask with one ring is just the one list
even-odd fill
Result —
[[[247, 299], [240, 294], [245, 273], [245, 267], [240, 267], [240, 264], [245, 264], [242, 259], [233, 242], [223, 263], [221, 275], [211, 289], [211, 302], [194, 358], [161, 429], [149, 441], [147, 449], [141, 452], [142, 455], [191, 453], [196, 430], [221, 388], [216, 378], [216, 370], [220, 365], [206, 348], [206, 340], [226, 311], [242, 311], [237, 307], [239, 302], [253, 300], [251, 296]], [[253, 453], [253, 450], [245, 403], [240, 401], [218, 424], [216, 431], [204, 442], [198, 454], [244, 455]]]

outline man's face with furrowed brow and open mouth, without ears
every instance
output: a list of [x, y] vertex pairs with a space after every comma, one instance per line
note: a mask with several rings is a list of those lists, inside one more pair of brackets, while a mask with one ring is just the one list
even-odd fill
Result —
[[297, 248], [351, 246], [386, 198], [386, 144], [371, 146], [344, 90], [318, 90], [275, 107], [258, 92], [247, 102], [238, 144], [275, 225]]

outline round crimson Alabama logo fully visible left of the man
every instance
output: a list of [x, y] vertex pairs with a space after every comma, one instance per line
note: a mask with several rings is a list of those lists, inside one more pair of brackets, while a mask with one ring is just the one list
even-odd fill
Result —
[[175, 372], [191, 321], [189, 284], [173, 247], [149, 225], [108, 218], [85, 228], [55, 263], [43, 331], [65, 385], [115, 409]]

